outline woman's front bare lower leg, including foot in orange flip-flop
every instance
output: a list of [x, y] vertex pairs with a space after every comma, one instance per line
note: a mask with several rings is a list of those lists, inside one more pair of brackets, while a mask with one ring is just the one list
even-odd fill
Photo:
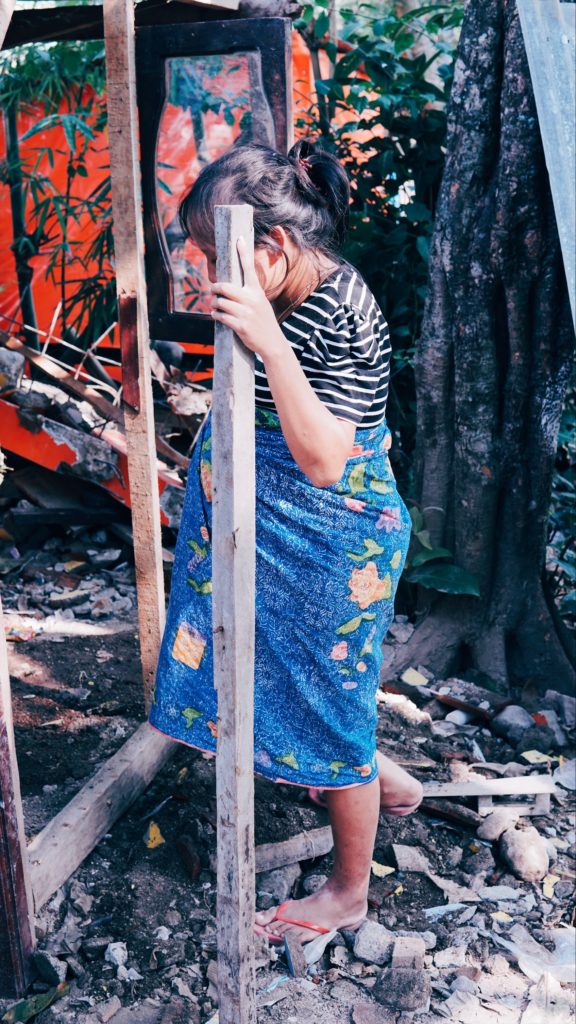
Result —
[[[380, 811], [378, 779], [351, 790], [327, 790], [334, 836], [334, 868], [328, 882], [312, 896], [291, 900], [283, 916], [310, 921], [325, 928], [358, 925], [368, 909], [368, 885]], [[256, 914], [256, 924], [271, 936], [290, 931], [301, 941], [318, 933], [275, 921], [277, 908]]]

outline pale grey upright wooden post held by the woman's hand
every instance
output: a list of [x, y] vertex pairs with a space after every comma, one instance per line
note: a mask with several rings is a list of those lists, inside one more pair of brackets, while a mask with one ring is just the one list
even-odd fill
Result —
[[[253, 246], [249, 206], [215, 208], [218, 281], [242, 283], [236, 243]], [[256, 1024], [254, 927], [254, 357], [216, 324], [212, 404], [212, 626], [218, 691], [220, 1024]]]

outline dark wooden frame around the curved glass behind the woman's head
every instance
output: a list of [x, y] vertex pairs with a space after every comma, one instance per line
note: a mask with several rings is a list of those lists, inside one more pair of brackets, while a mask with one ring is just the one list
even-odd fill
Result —
[[[170, 309], [168, 254], [160, 227], [156, 195], [156, 145], [166, 99], [165, 60], [257, 50], [264, 93], [276, 138], [286, 152], [290, 141], [291, 22], [289, 18], [238, 18], [225, 22], [155, 26], [136, 30], [136, 80], [140, 117], [140, 162], [146, 239], [146, 276], [151, 338], [211, 344], [207, 314]], [[146, 115], [145, 115], [146, 112]]]

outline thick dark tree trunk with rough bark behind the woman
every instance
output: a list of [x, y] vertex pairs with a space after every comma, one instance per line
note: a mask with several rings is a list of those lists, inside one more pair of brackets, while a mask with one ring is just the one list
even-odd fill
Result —
[[385, 675], [419, 662], [566, 692], [574, 660], [544, 560], [574, 334], [516, 0], [468, 2], [429, 267], [415, 495], [481, 597], [425, 592]]

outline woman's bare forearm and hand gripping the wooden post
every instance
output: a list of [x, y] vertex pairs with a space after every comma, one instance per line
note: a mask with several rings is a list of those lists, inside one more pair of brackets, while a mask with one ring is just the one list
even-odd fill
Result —
[[294, 461], [315, 486], [329, 486], [344, 471], [356, 427], [335, 417], [315, 393], [278, 325], [243, 242], [238, 250], [244, 287], [219, 282], [212, 285], [212, 316], [258, 353]]

